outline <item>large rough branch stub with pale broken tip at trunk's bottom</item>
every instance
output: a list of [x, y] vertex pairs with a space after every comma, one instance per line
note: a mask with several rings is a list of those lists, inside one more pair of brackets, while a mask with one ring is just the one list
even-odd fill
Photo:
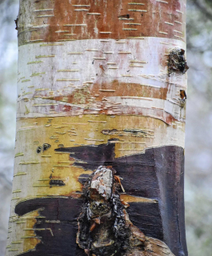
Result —
[[111, 166], [99, 166], [87, 178], [78, 217], [77, 243], [92, 256], [174, 256], [166, 244], [148, 238], [130, 222], [120, 192], [121, 180]]

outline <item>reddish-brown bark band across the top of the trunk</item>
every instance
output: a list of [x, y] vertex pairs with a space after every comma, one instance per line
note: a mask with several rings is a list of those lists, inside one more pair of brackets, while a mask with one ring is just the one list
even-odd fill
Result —
[[[20, 6], [19, 46], [97, 38], [158, 37], [183, 41], [185, 37], [183, 0], [22, 0]], [[25, 25], [26, 19], [30, 26]]]

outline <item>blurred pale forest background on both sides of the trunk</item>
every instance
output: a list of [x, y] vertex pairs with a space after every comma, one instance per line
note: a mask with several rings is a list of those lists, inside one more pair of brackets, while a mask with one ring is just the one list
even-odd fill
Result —
[[[0, 256], [5, 254], [15, 140], [18, 0], [0, 1]], [[212, 255], [212, 1], [187, 0], [186, 238]]]

